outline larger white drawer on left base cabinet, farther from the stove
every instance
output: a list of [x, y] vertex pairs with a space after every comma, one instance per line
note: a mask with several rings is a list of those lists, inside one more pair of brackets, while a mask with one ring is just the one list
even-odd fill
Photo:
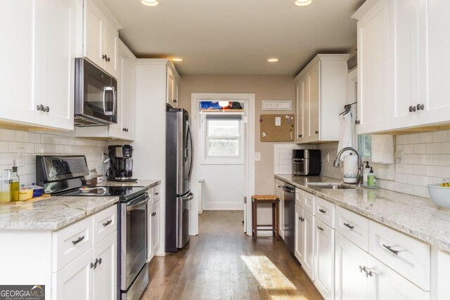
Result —
[[57, 272], [94, 246], [93, 217], [53, 233], [53, 272]]

